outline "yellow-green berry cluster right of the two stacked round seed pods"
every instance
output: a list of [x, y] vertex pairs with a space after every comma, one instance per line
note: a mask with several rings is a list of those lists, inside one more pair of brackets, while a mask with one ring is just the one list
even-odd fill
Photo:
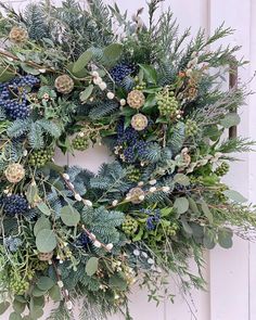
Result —
[[172, 119], [181, 117], [181, 111], [179, 110], [179, 103], [175, 97], [175, 93], [169, 90], [163, 90], [156, 97], [159, 114], [162, 116], [168, 116]]

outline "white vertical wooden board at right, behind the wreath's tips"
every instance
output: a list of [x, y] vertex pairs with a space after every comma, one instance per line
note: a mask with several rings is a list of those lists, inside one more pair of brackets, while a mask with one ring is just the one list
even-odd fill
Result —
[[[233, 44], [243, 46], [238, 57], [249, 57], [249, 28], [251, 1], [212, 0], [210, 29], [213, 31], [221, 22], [235, 28], [229, 40]], [[227, 41], [227, 40], [226, 40]], [[227, 43], [227, 42], [226, 42]], [[239, 71], [241, 80], [248, 80], [248, 67]], [[248, 137], [248, 107], [241, 112], [242, 125], [239, 133]], [[228, 178], [230, 184], [248, 195], [248, 155], [243, 155], [244, 163], [232, 166]], [[217, 248], [210, 253], [210, 319], [212, 320], [241, 320], [249, 319], [248, 310], [248, 243], [235, 239], [230, 251]]]

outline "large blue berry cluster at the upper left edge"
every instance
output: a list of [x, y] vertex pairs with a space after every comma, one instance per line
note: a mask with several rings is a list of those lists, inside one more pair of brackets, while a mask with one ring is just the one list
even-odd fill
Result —
[[39, 79], [33, 75], [14, 78], [0, 84], [0, 106], [12, 119], [24, 119], [29, 116], [29, 105], [26, 99], [28, 88], [33, 88]]

